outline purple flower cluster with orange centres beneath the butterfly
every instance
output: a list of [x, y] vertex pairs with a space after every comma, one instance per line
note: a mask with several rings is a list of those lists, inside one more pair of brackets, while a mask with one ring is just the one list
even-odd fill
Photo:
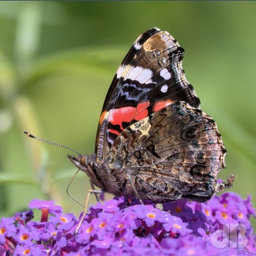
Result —
[[177, 200], [155, 204], [114, 198], [97, 203], [75, 233], [74, 214], [53, 202], [33, 200], [33, 211], [2, 218], [0, 255], [255, 255], [250, 196], [214, 196], [205, 203]]

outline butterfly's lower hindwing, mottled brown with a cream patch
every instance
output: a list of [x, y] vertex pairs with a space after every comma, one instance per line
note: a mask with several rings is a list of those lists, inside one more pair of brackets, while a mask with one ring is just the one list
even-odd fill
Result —
[[177, 102], [122, 131], [108, 164], [129, 173], [141, 199], [205, 201], [216, 193], [225, 153], [214, 120]]

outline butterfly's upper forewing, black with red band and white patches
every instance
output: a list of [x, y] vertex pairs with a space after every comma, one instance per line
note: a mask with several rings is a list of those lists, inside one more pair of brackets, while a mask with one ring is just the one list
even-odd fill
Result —
[[184, 100], [200, 107], [182, 68], [184, 49], [168, 33], [145, 31], [118, 68], [100, 115], [95, 153], [102, 161], [117, 136], [129, 125]]

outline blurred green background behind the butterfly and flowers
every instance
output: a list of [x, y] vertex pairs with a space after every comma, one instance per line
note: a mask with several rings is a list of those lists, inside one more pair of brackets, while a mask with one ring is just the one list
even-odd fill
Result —
[[[1, 2], [0, 216], [33, 198], [83, 209], [66, 188], [76, 168], [68, 150], [22, 130], [93, 152], [104, 97], [136, 38], [157, 26], [185, 49], [183, 67], [227, 147], [233, 191], [256, 205], [255, 2]], [[84, 202], [89, 183], [70, 188]], [[94, 198], [92, 197], [92, 202]], [[91, 202], [91, 203], [92, 203]]]

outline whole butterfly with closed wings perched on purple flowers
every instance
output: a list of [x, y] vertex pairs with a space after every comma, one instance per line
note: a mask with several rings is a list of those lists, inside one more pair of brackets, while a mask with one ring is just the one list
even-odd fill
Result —
[[216, 123], [200, 110], [183, 56], [177, 40], [158, 28], [132, 44], [106, 95], [95, 152], [68, 155], [99, 193], [205, 202], [232, 187], [233, 175], [216, 180], [227, 151]]

